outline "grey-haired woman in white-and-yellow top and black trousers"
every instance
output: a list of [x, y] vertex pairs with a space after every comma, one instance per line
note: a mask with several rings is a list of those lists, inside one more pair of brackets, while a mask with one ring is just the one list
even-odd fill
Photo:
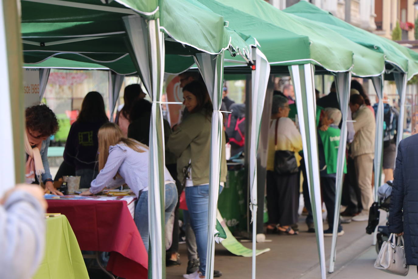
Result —
[[273, 96], [267, 157], [269, 218], [267, 230], [296, 235], [298, 232], [295, 232], [290, 225], [296, 224], [298, 221], [298, 172], [280, 173], [280, 171], [275, 171], [275, 157], [276, 160], [280, 159], [275, 156], [276, 151], [289, 151], [288, 154], [293, 154], [297, 166], [300, 166], [299, 151], [302, 150], [302, 137], [295, 123], [288, 118], [289, 111], [287, 98], [280, 95]]

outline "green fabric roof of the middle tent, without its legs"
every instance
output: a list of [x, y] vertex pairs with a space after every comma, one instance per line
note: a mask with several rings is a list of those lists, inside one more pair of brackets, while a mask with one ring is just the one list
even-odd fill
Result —
[[270, 65], [313, 63], [331, 72], [352, 70], [358, 76], [378, 75], [384, 70], [383, 54], [355, 44], [324, 24], [284, 13], [263, 0], [242, 0], [240, 5], [235, 0], [199, 2], [223, 15], [230, 28], [254, 36]]

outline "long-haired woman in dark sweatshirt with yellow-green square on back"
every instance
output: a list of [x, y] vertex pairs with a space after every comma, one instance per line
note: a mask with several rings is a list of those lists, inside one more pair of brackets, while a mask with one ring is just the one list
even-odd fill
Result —
[[64, 149], [64, 162], [74, 167], [75, 174], [81, 177], [80, 188], [90, 187], [97, 176], [97, 131], [108, 121], [102, 95], [96, 91], [87, 93]]

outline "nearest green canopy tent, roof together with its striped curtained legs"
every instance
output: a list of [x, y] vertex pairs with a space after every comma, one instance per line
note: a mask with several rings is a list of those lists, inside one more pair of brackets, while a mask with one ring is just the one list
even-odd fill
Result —
[[[166, 67], [167, 72], [181, 72], [194, 61], [201, 60], [200, 70], [206, 84], [211, 87], [209, 93], [214, 104], [212, 131], [216, 134], [212, 136], [210, 186], [212, 192], [217, 193], [219, 162], [216, 161], [219, 161], [222, 115], [219, 115], [220, 102], [216, 100], [222, 92], [224, 50], [229, 49], [231, 53], [240, 54], [245, 61], [250, 61], [251, 49], [240, 36], [224, 27], [222, 16], [193, 0], [151, 2], [143, 6], [145, 1], [118, 0], [110, 4], [95, 0], [87, 3], [76, 0], [22, 1], [22, 33], [26, 63], [41, 62], [54, 56], [75, 61], [94, 61], [119, 74], [138, 70], [153, 100], [150, 185], [156, 187], [150, 187], [148, 203], [151, 238], [149, 274], [151, 278], [162, 278], [165, 265], [161, 227], [164, 220], [161, 218], [163, 195], [160, 193], [164, 189], [164, 147], [160, 100], [164, 69]], [[66, 8], [61, 9], [62, 6]], [[141, 10], [143, 7], [154, 9], [149, 12]], [[49, 18], [51, 14], [54, 14], [54, 18]], [[197, 28], [191, 29], [190, 26]], [[214, 197], [211, 194], [211, 204], [216, 205]], [[210, 219], [212, 231], [216, 214], [213, 217]], [[213, 232], [209, 235], [213, 235]], [[213, 251], [213, 237], [209, 238], [212, 238], [208, 244], [212, 249], [208, 253]], [[208, 261], [212, 261], [212, 258], [208, 257]]]

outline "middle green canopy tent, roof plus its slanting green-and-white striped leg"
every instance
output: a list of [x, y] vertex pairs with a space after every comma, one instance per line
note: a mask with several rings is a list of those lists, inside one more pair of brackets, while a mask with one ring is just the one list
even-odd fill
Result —
[[[311, 99], [307, 95], [314, 96], [314, 68], [311, 64], [316, 65], [317, 72], [334, 72], [337, 77], [340, 77], [339, 80], [341, 81], [337, 84], [337, 87], [340, 92], [344, 90], [344, 95], [348, 96], [349, 91], [347, 91], [346, 84], [350, 79], [349, 71], [352, 71], [357, 76], [378, 76], [384, 70], [383, 55], [376, 55], [373, 51], [362, 46], [359, 47], [359, 45], [347, 40], [338, 33], [311, 20], [301, 22], [299, 18], [287, 15], [264, 1], [244, 1], [240, 2], [239, 6], [235, 5], [232, 0], [222, 2], [213, 0], [199, 1], [214, 12], [223, 15], [226, 20], [229, 20], [229, 27], [235, 31], [255, 36], [260, 43], [260, 50], [263, 51], [268, 61], [270, 61], [272, 73], [288, 73], [289, 71], [292, 73], [297, 100], [301, 100], [297, 104], [299, 119], [303, 120], [301, 132], [305, 158], [314, 158], [314, 160], [306, 159], [306, 161], [311, 163], [310, 166], [307, 164], [311, 199], [319, 199], [315, 113], [307, 105], [314, 103], [314, 101], [306, 102], [307, 99]], [[306, 41], [303, 41], [306, 38], [308, 38], [308, 44], [306, 44]], [[303, 64], [307, 64], [307, 67], [303, 66]], [[237, 68], [233, 64], [228, 64], [226, 71], [234, 72]], [[270, 117], [268, 102], [266, 100], [265, 109], [268, 112], [265, 113], [264, 120], [268, 120]], [[308, 118], [308, 113], [312, 113], [311, 116], [313, 117]], [[305, 115], [305, 118], [303, 115]], [[313, 120], [311, 121], [312, 123], [309, 122], [309, 119]], [[265, 123], [268, 123], [268, 121], [265, 121]], [[266, 132], [268, 131], [264, 129], [264, 133]], [[263, 154], [263, 152], [261, 153]], [[261, 179], [261, 182], [263, 181], [264, 179]], [[316, 202], [317, 208], [314, 208], [316, 225], [322, 227], [320, 200], [316, 200]], [[312, 204], [315, 205], [315, 202], [312, 202]], [[317, 227], [316, 231], [318, 232], [317, 241], [321, 271], [324, 277], [325, 259], [323, 236], [321, 235], [322, 228]]]

